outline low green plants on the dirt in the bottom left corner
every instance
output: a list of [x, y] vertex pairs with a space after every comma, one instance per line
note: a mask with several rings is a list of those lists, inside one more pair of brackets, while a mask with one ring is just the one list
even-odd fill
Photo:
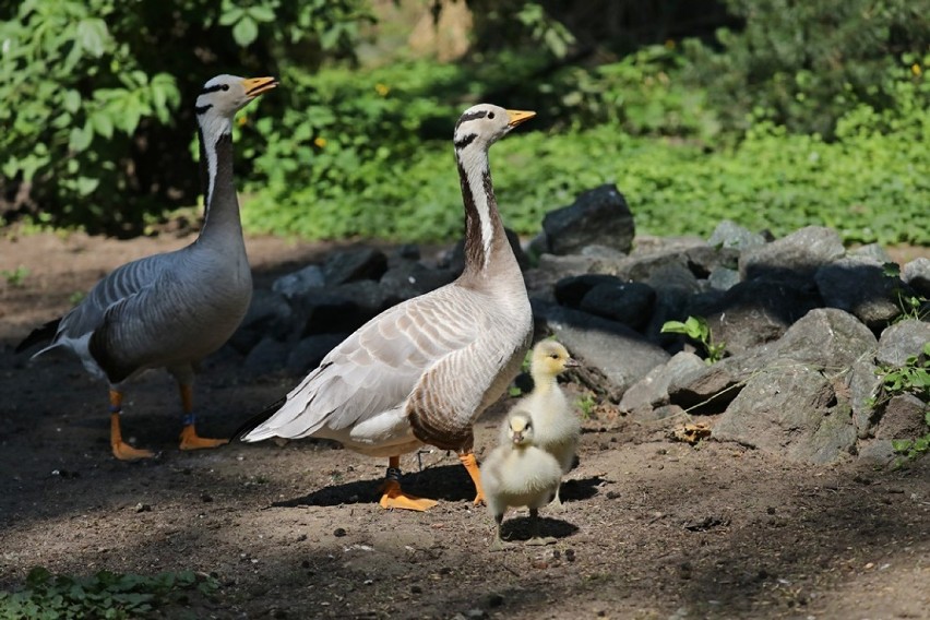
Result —
[[[180, 598], [186, 591], [211, 595], [218, 585], [213, 577], [192, 571], [155, 576], [100, 571], [87, 577], [56, 575], [36, 567], [25, 587], [0, 592], [0, 617], [7, 619], [79, 620], [139, 618]], [[164, 609], [163, 609], [164, 610]]]

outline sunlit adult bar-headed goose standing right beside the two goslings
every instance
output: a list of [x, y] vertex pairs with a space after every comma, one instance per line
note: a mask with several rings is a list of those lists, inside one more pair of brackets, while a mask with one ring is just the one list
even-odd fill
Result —
[[533, 318], [523, 274], [501, 224], [488, 148], [535, 112], [488, 104], [455, 126], [465, 203], [465, 271], [453, 283], [390, 308], [334, 348], [284, 405], [243, 437], [318, 437], [388, 456], [381, 505], [427, 510], [404, 493], [400, 455], [424, 444], [458, 452], [484, 499], [472, 425], [520, 370]]

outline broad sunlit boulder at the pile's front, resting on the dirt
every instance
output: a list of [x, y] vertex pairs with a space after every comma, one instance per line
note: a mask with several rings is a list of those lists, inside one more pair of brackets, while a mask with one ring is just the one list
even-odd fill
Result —
[[789, 461], [827, 464], [851, 453], [856, 431], [846, 409], [831, 409], [831, 382], [816, 370], [776, 367], [750, 379], [717, 420], [713, 436]]

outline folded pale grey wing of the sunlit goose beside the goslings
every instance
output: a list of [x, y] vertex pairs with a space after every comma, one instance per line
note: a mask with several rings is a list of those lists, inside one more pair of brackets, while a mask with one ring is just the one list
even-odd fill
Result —
[[426, 373], [448, 366], [485, 329], [476, 305], [461, 293], [446, 286], [362, 325], [243, 440], [309, 437], [323, 426], [344, 429], [404, 406]]

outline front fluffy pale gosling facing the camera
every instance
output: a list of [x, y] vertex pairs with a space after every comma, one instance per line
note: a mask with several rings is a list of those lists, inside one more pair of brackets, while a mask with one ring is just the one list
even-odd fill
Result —
[[500, 445], [485, 460], [481, 470], [488, 512], [497, 526], [491, 551], [504, 548], [501, 523], [509, 508], [529, 509], [533, 537], [527, 545], [555, 542], [555, 538], [539, 537], [539, 509], [556, 496], [562, 468], [555, 456], [537, 445], [538, 431], [527, 412], [512, 412], [501, 428]]

